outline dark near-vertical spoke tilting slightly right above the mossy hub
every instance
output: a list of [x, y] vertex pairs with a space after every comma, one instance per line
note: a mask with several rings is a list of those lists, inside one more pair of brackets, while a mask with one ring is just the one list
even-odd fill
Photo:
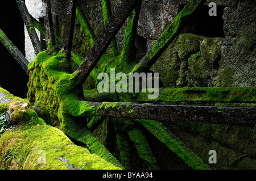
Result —
[[73, 34], [76, 19], [76, 0], [67, 0], [67, 13], [65, 17], [63, 48], [67, 59], [71, 58]]

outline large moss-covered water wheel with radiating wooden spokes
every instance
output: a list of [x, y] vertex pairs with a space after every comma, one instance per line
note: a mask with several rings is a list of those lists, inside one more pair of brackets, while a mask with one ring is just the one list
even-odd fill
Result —
[[[124, 169], [176, 169], [175, 166], [172, 167], [172, 159], [174, 163], [180, 164], [179, 166], [185, 169], [210, 169], [205, 163], [207, 161], [205, 158], [198, 157], [167, 128], [167, 122], [181, 120], [181, 122], [229, 124], [230, 121], [226, 120], [226, 117], [229, 117], [234, 125], [254, 125], [255, 109], [249, 110], [243, 120], [236, 120], [237, 115], [243, 113], [245, 109], [171, 105], [174, 102], [255, 103], [255, 96], [251, 96], [255, 92], [254, 88], [246, 90], [230, 87], [167, 88], [160, 89], [160, 95], [155, 100], [148, 99], [148, 93], [119, 94], [97, 90], [99, 83], [97, 75], [102, 72], [110, 75], [112, 68], [115, 68], [115, 74], [150, 71], [168, 45], [179, 35], [185, 22], [205, 1], [187, 3], [150, 52], [139, 62], [133, 60], [136, 55], [134, 41], [141, 1], [122, 1], [112, 13], [110, 2], [102, 0], [105, 28], [98, 36], [93, 32], [86, 16], [82, 14], [80, 4], [76, 1], [68, 1], [63, 40], [54, 32], [51, 4], [48, 0], [46, 2], [47, 27], [31, 15], [24, 16], [29, 19], [27, 26], [30, 26], [30, 33], [35, 31], [33, 28], [35, 27], [46, 35], [48, 40], [47, 50], [35, 48], [39, 52], [35, 60], [27, 65], [26, 71], [29, 71], [30, 76], [28, 100], [36, 107], [40, 107], [39, 115], [44, 120], [48, 120], [50, 125], [58, 127], [71, 140], [86, 146], [93, 154], [99, 155], [115, 166], [120, 166], [119, 162], [121, 162], [121, 167]], [[115, 35], [126, 19], [123, 48], [118, 50]], [[89, 42], [90, 50], [85, 58], [72, 49], [78, 46], [76, 42], [73, 43], [75, 20], [79, 21]], [[31, 39], [36, 37], [31, 36]], [[36, 46], [34, 44], [34, 47]], [[201, 56], [200, 53], [196, 55]], [[199, 67], [204, 65], [202, 62], [199, 62]], [[205, 116], [202, 110], [207, 112], [208, 116]], [[163, 153], [166, 153], [164, 155], [166, 160], [163, 158]]]

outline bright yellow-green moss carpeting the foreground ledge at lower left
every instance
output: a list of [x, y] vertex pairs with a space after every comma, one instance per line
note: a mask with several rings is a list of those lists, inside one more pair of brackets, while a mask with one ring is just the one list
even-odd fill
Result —
[[[3, 156], [10, 155], [13, 151], [19, 151], [18, 145], [24, 145], [24, 151], [20, 157], [26, 158], [21, 169], [67, 169], [64, 162], [59, 161], [60, 157], [68, 159], [69, 165], [80, 166], [82, 169], [119, 169], [106, 162], [98, 155], [91, 154], [88, 149], [76, 146], [57, 128], [40, 124], [23, 125], [15, 131], [7, 131], [1, 136], [0, 163], [3, 163]], [[42, 153], [46, 156], [45, 163], [42, 160]], [[18, 159], [18, 158], [17, 158]], [[19, 162], [19, 161], [18, 161]]]

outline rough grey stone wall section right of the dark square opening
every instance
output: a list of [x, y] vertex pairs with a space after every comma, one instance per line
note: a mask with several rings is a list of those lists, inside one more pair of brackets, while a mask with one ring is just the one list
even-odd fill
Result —
[[256, 86], [256, 1], [234, 1], [224, 9], [225, 39], [217, 86]]

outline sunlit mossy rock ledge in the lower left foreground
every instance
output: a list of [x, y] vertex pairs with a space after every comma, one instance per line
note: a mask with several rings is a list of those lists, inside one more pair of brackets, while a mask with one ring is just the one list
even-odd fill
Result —
[[47, 125], [27, 100], [14, 98], [8, 104], [13, 112], [11, 124], [16, 128], [0, 137], [1, 169], [121, 169], [87, 148], [75, 145], [60, 129]]

